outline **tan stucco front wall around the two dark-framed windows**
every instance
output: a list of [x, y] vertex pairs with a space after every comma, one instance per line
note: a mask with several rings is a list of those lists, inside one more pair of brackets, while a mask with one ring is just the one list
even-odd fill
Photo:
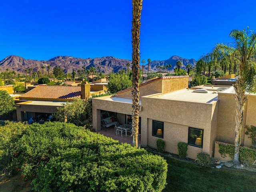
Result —
[[[167, 152], [178, 154], [178, 142], [188, 142], [188, 127], [204, 130], [203, 149], [189, 146], [188, 157], [196, 158], [198, 152], [214, 151], [213, 139], [216, 130], [216, 102], [212, 104], [165, 100], [159, 98], [142, 98], [143, 110], [141, 144], [156, 148], [158, 137], [152, 136], [152, 120], [164, 122], [164, 138]], [[146, 119], [146, 120], [144, 120]], [[213, 127], [213, 130], [212, 130]]]

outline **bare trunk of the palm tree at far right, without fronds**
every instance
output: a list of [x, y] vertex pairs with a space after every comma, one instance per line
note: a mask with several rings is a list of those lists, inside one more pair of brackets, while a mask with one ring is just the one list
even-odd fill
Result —
[[235, 154], [234, 154], [234, 164], [238, 165], [239, 162], [239, 148], [241, 144], [241, 133], [242, 133], [242, 121], [244, 117], [244, 106], [247, 100], [247, 96], [245, 94], [245, 89], [243, 88], [243, 83], [241, 80], [238, 80], [236, 84], [234, 84], [235, 90], [235, 101], [236, 101], [236, 126], [235, 126]]

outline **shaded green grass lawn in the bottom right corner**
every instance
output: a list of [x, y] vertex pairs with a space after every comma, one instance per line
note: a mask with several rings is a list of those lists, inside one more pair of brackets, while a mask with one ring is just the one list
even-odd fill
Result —
[[162, 192], [256, 192], [256, 172], [205, 168], [164, 156], [167, 185]]

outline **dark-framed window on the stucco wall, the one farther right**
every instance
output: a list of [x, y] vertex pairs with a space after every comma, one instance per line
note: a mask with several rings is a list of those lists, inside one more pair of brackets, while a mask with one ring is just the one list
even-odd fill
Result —
[[188, 128], [188, 144], [203, 148], [204, 130], [197, 128]]

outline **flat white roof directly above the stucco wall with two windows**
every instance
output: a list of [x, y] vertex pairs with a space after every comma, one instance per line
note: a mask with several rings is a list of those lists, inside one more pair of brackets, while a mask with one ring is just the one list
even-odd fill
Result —
[[211, 103], [218, 100], [218, 92], [216, 90], [208, 90], [208, 93], [194, 92], [193, 89], [182, 89], [163, 95], [152, 96], [160, 99], [188, 101], [198, 103]]

